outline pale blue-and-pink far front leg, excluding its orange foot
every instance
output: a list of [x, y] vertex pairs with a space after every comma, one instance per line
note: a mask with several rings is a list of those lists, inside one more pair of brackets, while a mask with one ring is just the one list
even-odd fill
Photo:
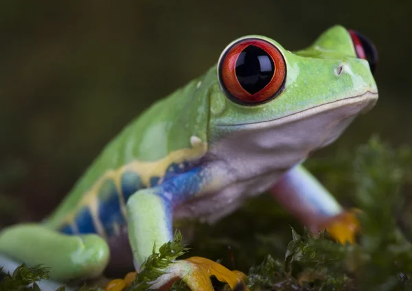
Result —
[[304, 167], [289, 170], [272, 187], [271, 194], [312, 231], [343, 212], [334, 197]]

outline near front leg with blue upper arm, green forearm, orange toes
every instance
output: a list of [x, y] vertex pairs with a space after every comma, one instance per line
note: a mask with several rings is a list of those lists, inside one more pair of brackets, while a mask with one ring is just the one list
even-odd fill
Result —
[[[152, 254], [154, 245], [155, 251], [159, 252], [162, 244], [172, 240], [174, 207], [196, 194], [201, 194], [209, 185], [210, 176], [207, 169], [198, 167], [174, 176], [157, 187], [141, 189], [130, 196], [126, 205], [128, 234], [137, 271]], [[220, 281], [226, 281], [232, 289], [242, 280], [238, 272], [232, 272], [214, 261], [201, 257], [176, 261], [163, 271], [165, 275], [161, 275], [152, 283], [153, 289], [167, 286], [179, 278], [183, 279], [190, 289], [205, 291], [214, 290], [209, 279], [211, 275], [215, 275]], [[122, 290], [125, 284], [119, 280], [115, 281], [113, 284], [109, 283], [106, 290]]]

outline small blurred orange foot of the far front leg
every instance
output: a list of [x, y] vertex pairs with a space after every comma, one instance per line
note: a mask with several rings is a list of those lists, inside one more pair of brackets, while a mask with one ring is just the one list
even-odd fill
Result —
[[354, 244], [356, 234], [359, 231], [359, 222], [356, 218], [356, 213], [360, 212], [358, 209], [351, 209], [350, 211], [345, 211], [334, 216], [322, 225], [322, 231], [326, 229], [330, 237], [341, 244], [346, 244], [347, 242]]

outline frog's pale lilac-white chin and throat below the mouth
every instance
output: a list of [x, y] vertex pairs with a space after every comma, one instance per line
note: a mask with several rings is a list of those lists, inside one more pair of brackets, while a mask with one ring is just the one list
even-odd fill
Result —
[[230, 133], [212, 143], [209, 152], [242, 169], [242, 177], [237, 177], [241, 179], [287, 170], [336, 140], [377, 98], [377, 93], [367, 91], [271, 121], [225, 126]]

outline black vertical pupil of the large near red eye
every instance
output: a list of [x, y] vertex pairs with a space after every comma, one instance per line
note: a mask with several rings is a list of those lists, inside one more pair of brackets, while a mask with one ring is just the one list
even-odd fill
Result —
[[264, 49], [249, 45], [236, 60], [236, 77], [244, 90], [255, 94], [271, 82], [275, 65]]

